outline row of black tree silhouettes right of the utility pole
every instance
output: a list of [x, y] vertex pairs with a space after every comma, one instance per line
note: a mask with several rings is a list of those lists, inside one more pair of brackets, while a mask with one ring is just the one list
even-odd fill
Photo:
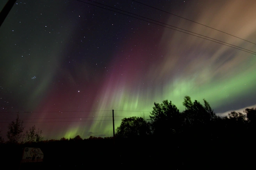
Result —
[[210, 104], [191, 101], [186, 96], [183, 101], [185, 110], [168, 102], [154, 103], [149, 120], [143, 117], [123, 118], [117, 128], [117, 137], [136, 138], [153, 135], [154, 137], [196, 135], [197, 138], [215, 140], [232, 135], [252, 135], [256, 128], [256, 108], [245, 109], [243, 113], [231, 112], [228, 116], [217, 116]]

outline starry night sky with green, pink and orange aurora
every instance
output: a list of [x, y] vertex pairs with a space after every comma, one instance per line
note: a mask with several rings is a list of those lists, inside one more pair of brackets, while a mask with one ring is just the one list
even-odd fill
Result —
[[165, 99], [183, 111], [185, 95], [219, 115], [256, 107], [255, 0], [82, 1], [17, 0], [0, 27], [3, 137], [17, 112], [69, 139], [112, 136], [112, 109], [115, 128]]

